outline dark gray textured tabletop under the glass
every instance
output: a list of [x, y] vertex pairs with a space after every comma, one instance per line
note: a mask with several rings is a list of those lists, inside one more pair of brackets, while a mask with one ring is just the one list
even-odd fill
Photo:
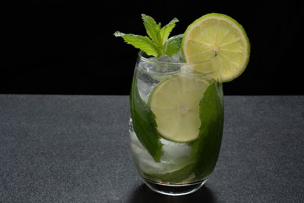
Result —
[[0, 95], [0, 202], [304, 203], [304, 96], [225, 96], [216, 169], [181, 197], [138, 177], [128, 99]]

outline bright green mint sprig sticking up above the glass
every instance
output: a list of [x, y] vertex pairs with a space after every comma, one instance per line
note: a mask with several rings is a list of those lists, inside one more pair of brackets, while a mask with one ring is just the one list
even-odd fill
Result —
[[184, 34], [174, 37], [169, 35], [178, 22], [177, 18], [172, 19], [167, 25], [161, 28], [161, 23], [156, 23], [155, 20], [145, 14], [141, 15], [147, 36], [139, 36], [134, 34], [124, 34], [119, 31], [114, 33], [115, 37], [122, 37], [125, 42], [140, 49], [147, 55], [159, 57], [160, 55], [175, 55], [181, 48]]

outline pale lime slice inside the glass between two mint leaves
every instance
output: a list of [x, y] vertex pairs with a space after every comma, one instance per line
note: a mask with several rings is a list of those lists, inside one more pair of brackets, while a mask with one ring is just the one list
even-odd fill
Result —
[[200, 77], [173, 75], [155, 87], [148, 102], [163, 138], [185, 143], [199, 136], [199, 103], [209, 84]]

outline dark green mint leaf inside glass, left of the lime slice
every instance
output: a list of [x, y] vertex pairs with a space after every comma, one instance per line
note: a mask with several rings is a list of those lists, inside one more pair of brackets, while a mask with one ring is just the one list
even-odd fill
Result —
[[160, 162], [163, 155], [163, 144], [157, 132], [155, 115], [149, 106], [140, 98], [137, 76], [134, 75], [130, 93], [130, 109], [133, 127], [140, 143], [148, 150], [156, 162]]

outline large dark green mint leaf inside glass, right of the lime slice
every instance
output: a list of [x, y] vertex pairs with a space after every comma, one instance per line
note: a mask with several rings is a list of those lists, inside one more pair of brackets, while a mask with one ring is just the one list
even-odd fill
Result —
[[[220, 96], [219, 96], [220, 95]], [[224, 108], [222, 86], [213, 81], [200, 101], [200, 135], [191, 143], [196, 156], [196, 178], [208, 177], [216, 166], [223, 132]]]

